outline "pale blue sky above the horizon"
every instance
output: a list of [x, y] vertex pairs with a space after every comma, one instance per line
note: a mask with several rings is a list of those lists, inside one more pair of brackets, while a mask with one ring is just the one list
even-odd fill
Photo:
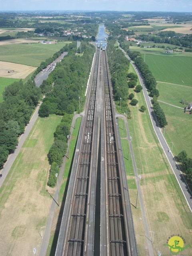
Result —
[[192, 12], [192, 0], [0, 0], [5, 10]]

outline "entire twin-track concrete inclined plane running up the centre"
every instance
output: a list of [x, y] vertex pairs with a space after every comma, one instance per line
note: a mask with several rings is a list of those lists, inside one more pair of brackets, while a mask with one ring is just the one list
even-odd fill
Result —
[[[97, 49], [56, 256], [138, 255], [128, 189], [124, 189], [127, 188], [126, 175], [122, 152], [119, 151], [121, 146], [117, 142], [120, 138], [116, 135], [106, 58], [106, 52]], [[101, 177], [98, 190], [97, 175]], [[124, 181], [122, 175], [125, 176]], [[96, 195], [96, 191], [100, 196]], [[98, 206], [96, 196], [100, 197]], [[96, 214], [100, 215], [99, 221]], [[94, 238], [95, 220], [98, 226], [100, 224], [100, 244]], [[97, 255], [94, 246], [100, 248]]]

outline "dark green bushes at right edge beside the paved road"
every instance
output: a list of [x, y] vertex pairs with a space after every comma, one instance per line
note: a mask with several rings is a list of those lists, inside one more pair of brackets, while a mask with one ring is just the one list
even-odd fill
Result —
[[186, 179], [190, 185], [192, 185], [192, 159], [187, 157], [185, 150], [182, 150], [176, 160], [182, 165], [182, 172], [186, 174]]

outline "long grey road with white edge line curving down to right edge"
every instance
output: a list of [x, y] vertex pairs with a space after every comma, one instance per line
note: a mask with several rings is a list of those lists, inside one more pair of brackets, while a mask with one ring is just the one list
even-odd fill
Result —
[[[125, 54], [125, 56], [130, 60], [129, 56], [126, 54], [126, 52], [124, 50], [122, 50]], [[182, 172], [180, 171], [180, 168], [177, 164], [177, 162], [175, 161], [175, 158], [172, 154], [172, 152], [168, 152], [168, 150], [170, 148], [172, 148], [173, 144], [172, 142], [166, 142], [161, 130], [160, 130], [160, 127], [158, 126], [158, 122], [156, 120], [156, 116], [154, 114], [154, 111], [153, 111], [153, 108], [152, 108], [152, 104], [151, 104], [151, 101], [150, 101], [150, 97], [148, 96], [148, 91], [145, 87], [145, 84], [144, 84], [144, 81], [140, 75], [140, 72], [139, 70], [137, 69], [136, 65], [132, 62], [132, 60], [130, 60], [131, 64], [133, 65], [136, 73], [138, 74], [138, 77], [139, 77], [139, 80], [140, 80], [140, 83], [143, 87], [143, 93], [144, 93], [144, 97], [145, 97], [145, 100], [146, 100], [146, 104], [147, 104], [147, 108], [148, 108], [148, 111], [149, 111], [149, 114], [150, 114], [150, 118], [151, 118], [151, 121], [152, 121], [152, 125], [153, 125], [153, 128], [154, 128], [154, 131], [156, 132], [156, 135], [160, 141], [160, 144], [164, 150], [164, 153], [170, 163], [170, 166], [172, 168], [172, 171], [174, 172], [175, 176], [176, 176], [176, 179], [178, 181], [178, 184], [184, 194], [184, 197], [186, 198], [186, 201], [188, 203], [188, 206], [190, 208], [190, 210], [192, 211], [192, 192], [190, 191], [190, 188], [188, 187], [185, 179], [184, 179], [184, 176], [182, 174]], [[168, 145], [169, 144], [169, 145]]]

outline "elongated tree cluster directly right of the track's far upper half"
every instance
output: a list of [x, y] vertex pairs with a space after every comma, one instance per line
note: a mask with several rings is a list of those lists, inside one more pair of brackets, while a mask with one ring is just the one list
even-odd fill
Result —
[[128, 110], [128, 116], [130, 116], [130, 109], [127, 105], [128, 99], [128, 70], [130, 61], [124, 56], [122, 51], [117, 47], [114, 48], [116, 39], [109, 37], [107, 54], [108, 63], [110, 66], [111, 80], [113, 86], [114, 100], [119, 102], [121, 98], [122, 110]]

